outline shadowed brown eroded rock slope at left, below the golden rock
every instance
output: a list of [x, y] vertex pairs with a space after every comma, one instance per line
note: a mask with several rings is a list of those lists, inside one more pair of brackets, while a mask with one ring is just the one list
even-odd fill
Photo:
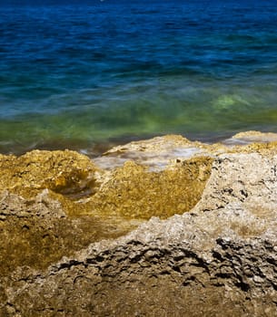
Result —
[[[25, 199], [0, 194], [0, 280], [17, 267], [45, 269], [64, 255], [73, 255], [93, 241], [126, 234], [138, 222], [124, 218], [67, 216], [48, 190]], [[1, 316], [1, 314], [0, 314]]]

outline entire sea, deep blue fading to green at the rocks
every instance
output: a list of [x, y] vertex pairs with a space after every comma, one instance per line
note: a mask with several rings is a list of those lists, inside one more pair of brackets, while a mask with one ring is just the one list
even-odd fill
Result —
[[0, 152], [277, 132], [277, 1], [0, 1]]

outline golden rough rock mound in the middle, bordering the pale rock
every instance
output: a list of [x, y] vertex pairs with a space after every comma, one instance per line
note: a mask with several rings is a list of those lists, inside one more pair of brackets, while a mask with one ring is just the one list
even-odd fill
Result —
[[94, 210], [128, 218], [166, 218], [190, 210], [200, 199], [213, 159], [197, 157], [150, 172], [132, 161], [117, 168], [92, 198]]

